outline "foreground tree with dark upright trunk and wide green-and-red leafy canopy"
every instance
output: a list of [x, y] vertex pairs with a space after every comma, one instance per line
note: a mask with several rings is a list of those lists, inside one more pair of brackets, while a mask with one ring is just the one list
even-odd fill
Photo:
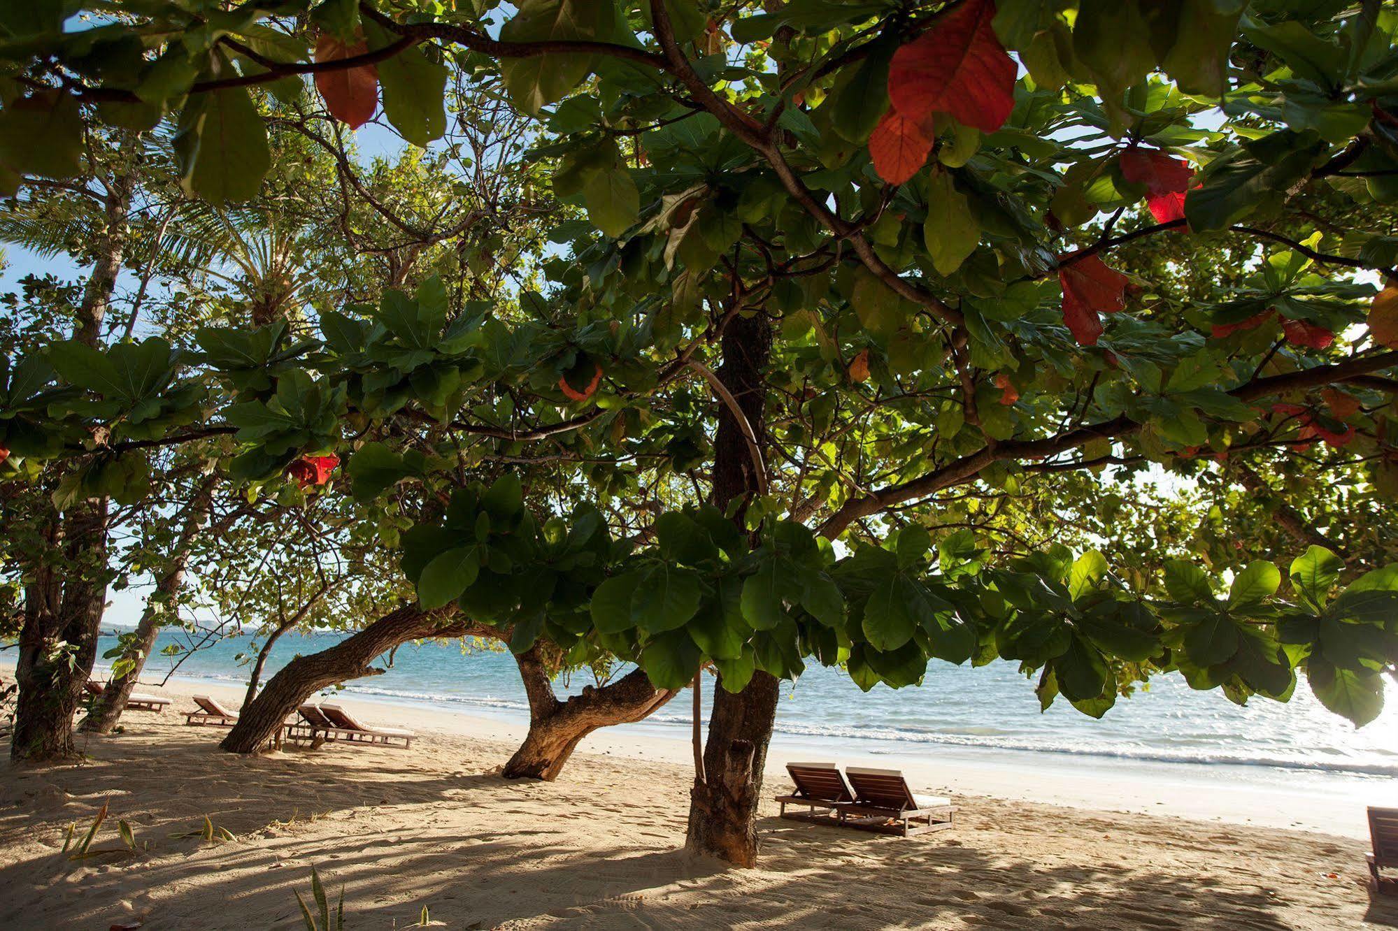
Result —
[[[15, 24], [0, 129], [45, 134], [0, 164], [11, 183], [63, 176], [81, 110], [169, 106], [187, 187], [243, 200], [268, 161], [260, 88], [302, 99], [312, 74], [351, 126], [382, 89], [429, 145], [453, 73], [499, 81], [534, 117], [528, 171], [586, 212], [551, 232], [566, 253], [491, 303], [424, 277], [324, 308], [319, 345], [152, 442], [231, 436], [252, 484], [348, 452], [358, 500], [417, 503], [404, 628], [454, 604], [519, 656], [610, 653], [657, 689], [712, 663], [692, 849], [754, 863], [776, 682], [807, 660], [872, 688], [998, 657], [1096, 716], [1162, 672], [1285, 700], [1300, 671], [1332, 710], [1377, 714], [1392, 569], [1311, 547], [1278, 596], [1275, 552], [1172, 534], [1194, 559], [1113, 572], [1061, 542], [986, 547], [939, 507], [1067, 488], [1100, 514], [1074, 472], [1107, 468], [1131, 498], [1134, 474], [1169, 468], [1218, 492], [1246, 551], [1275, 537], [1253, 505], [1223, 510], [1241, 464], [1278, 478], [1283, 524], [1314, 528], [1335, 499], [1281, 481], [1306, 475], [1391, 526], [1398, 298], [1373, 280], [1398, 278], [1398, 59], [1380, 4], [527, 0], [499, 39], [480, 7], [291, 7], [308, 20], [171, 14], [155, 60], [122, 29]], [[112, 419], [6, 411], [70, 433]], [[116, 425], [102, 452], [143, 442]], [[535, 516], [524, 496], [545, 492]]]

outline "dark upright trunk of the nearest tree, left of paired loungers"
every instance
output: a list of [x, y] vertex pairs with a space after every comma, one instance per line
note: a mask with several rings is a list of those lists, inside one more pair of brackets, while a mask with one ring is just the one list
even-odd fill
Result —
[[[734, 317], [723, 334], [723, 365], [719, 380], [737, 400], [759, 450], [765, 452], [766, 384], [763, 373], [772, 349], [772, 329], [766, 317]], [[747, 500], [758, 492], [762, 468], [737, 415], [720, 405], [714, 438], [713, 500], [728, 507], [742, 499], [734, 520], [742, 524]], [[777, 710], [777, 681], [758, 671], [737, 695], [714, 689], [705, 745], [703, 779], [695, 776], [689, 800], [689, 830], [685, 846], [740, 867], [758, 858], [756, 812], [762, 793], [762, 767]]]

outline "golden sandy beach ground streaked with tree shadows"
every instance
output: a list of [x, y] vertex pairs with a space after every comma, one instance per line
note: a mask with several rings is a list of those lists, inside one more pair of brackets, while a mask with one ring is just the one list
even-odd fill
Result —
[[[955, 795], [956, 826], [895, 839], [763, 809], [756, 869], [684, 854], [688, 744], [594, 735], [556, 783], [498, 776], [514, 734], [498, 721], [347, 705], [422, 735], [411, 752], [327, 745], [263, 758], [217, 752], [217, 728], [164, 714], [87, 738], [87, 762], [0, 765], [0, 923], [7, 928], [301, 928], [310, 867], [347, 927], [404, 928], [1355, 928], [1398, 925], [1373, 904], [1366, 844], [1314, 830], [1096, 811], [1044, 801], [1064, 787], [988, 791], [1001, 774], [924, 779]], [[6, 752], [8, 748], [4, 748]], [[678, 756], [678, 758], [677, 758]], [[786, 786], [773, 760], [765, 795]], [[1021, 779], [1021, 783], [1025, 780]], [[1051, 780], [1046, 780], [1051, 781]], [[1226, 787], [1220, 787], [1225, 791]], [[1156, 800], [1159, 801], [1159, 800]], [[63, 853], [106, 802], [81, 861]], [[233, 840], [172, 837], [208, 818]], [[1289, 815], [1288, 815], [1289, 816]], [[122, 850], [124, 819], [138, 850]], [[136, 925], [129, 925], [136, 927]]]

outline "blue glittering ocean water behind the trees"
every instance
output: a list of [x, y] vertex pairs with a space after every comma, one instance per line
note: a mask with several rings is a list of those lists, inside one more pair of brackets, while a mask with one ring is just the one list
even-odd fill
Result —
[[[268, 657], [263, 681], [296, 654], [323, 650], [341, 636], [282, 637]], [[221, 685], [246, 682], [249, 667], [239, 654], [249, 651], [249, 637], [226, 637], [180, 657], [159, 654], [168, 644], [187, 650], [196, 642], [186, 633], [162, 633], [141, 679], [158, 684], [173, 675]], [[103, 636], [101, 651], [115, 643], [115, 636]], [[558, 688], [561, 693], [577, 691], [591, 681], [590, 674], [575, 675]], [[466, 654], [454, 643], [405, 644], [384, 675], [350, 682], [345, 691], [369, 700], [528, 719], [514, 660], [496, 651]], [[878, 685], [868, 693], [839, 670], [812, 667], [800, 681], [783, 682], [781, 691], [779, 735], [801, 744], [830, 744], [832, 749], [854, 741], [864, 752], [911, 758], [938, 748], [983, 748], [1016, 758], [1029, 753], [1054, 765], [1096, 758], [1229, 763], [1267, 767], [1281, 777], [1288, 770], [1357, 779], [1398, 776], [1398, 689], [1390, 689], [1383, 716], [1363, 728], [1325, 710], [1304, 684], [1286, 705], [1255, 698], [1239, 707], [1218, 691], [1191, 691], [1177, 675], [1160, 677], [1148, 692], [1118, 700], [1102, 720], [1081, 714], [1067, 702], [1040, 713], [1033, 681], [1011, 663], [972, 670], [934, 660], [921, 688], [895, 691]], [[705, 693], [712, 693], [712, 684]], [[626, 727], [684, 737], [691, 724], [689, 707], [689, 700], [679, 698], [646, 723]]]

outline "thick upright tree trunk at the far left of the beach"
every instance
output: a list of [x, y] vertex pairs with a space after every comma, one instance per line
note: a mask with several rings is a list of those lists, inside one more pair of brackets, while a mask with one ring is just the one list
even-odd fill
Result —
[[[92, 274], [82, 292], [73, 338], [96, 347], [122, 271], [126, 215], [131, 204], [134, 172], [113, 171], [105, 201], [105, 225], [94, 242]], [[32, 580], [25, 586], [24, 628], [15, 681], [14, 737], [10, 756], [31, 762], [57, 762], [77, 756], [73, 716], [82, 685], [96, 660], [96, 637], [106, 607], [108, 500], [94, 498], [71, 505], [62, 517], [41, 516], [50, 554], [62, 552], [59, 566], [35, 554]]]

